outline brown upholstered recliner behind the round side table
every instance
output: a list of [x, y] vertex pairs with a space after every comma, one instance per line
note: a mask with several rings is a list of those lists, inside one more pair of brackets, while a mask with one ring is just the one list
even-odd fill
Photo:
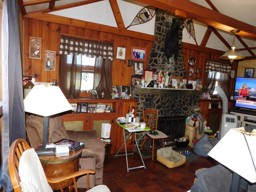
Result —
[[[30, 146], [36, 148], [42, 144], [43, 118], [30, 115], [26, 120], [26, 131]], [[103, 163], [105, 147], [102, 140], [96, 137], [96, 130], [73, 131], [66, 130], [60, 116], [51, 116], [49, 120], [49, 142], [54, 143], [62, 138], [83, 142], [80, 169], [93, 169], [95, 175], [90, 175], [90, 188], [103, 183]], [[78, 188], [86, 186], [86, 177], [83, 176], [76, 182]]]

